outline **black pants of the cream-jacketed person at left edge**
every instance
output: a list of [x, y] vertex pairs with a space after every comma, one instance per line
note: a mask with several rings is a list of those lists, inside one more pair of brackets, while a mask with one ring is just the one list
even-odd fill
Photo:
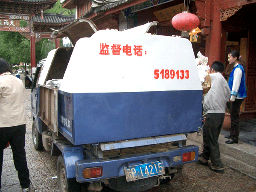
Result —
[[25, 124], [18, 125], [15, 127], [0, 128], [0, 178], [2, 175], [3, 168], [3, 150], [9, 141], [12, 148], [15, 169], [18, 172], [20, 186], [22, 188], [28, 188], [30, 183], [29, 169], [26, 162], [25, 133]]

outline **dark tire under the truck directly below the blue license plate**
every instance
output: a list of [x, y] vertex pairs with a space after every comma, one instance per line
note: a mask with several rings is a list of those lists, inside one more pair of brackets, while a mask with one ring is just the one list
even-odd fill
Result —
[[126, 181], [126, 177], [108, 179], [108, 187], [119, 192], [140, 192], [152, 188], [157, 184], [157, 177]]

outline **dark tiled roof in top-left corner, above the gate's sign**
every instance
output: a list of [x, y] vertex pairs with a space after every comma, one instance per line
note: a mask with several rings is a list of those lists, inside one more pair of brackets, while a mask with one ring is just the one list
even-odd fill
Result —
[[15, 14], [38, 14], [50, 9], [57, 0], [0, 0], [0, 12]]

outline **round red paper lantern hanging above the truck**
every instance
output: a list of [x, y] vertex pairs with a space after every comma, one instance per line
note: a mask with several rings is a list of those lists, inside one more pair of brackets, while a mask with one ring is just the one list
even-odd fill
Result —
[[192, 13], [182, 12], [172, 17], [172, 26], [180, 31], [196, 29], [198, 25], [198, 16]]

